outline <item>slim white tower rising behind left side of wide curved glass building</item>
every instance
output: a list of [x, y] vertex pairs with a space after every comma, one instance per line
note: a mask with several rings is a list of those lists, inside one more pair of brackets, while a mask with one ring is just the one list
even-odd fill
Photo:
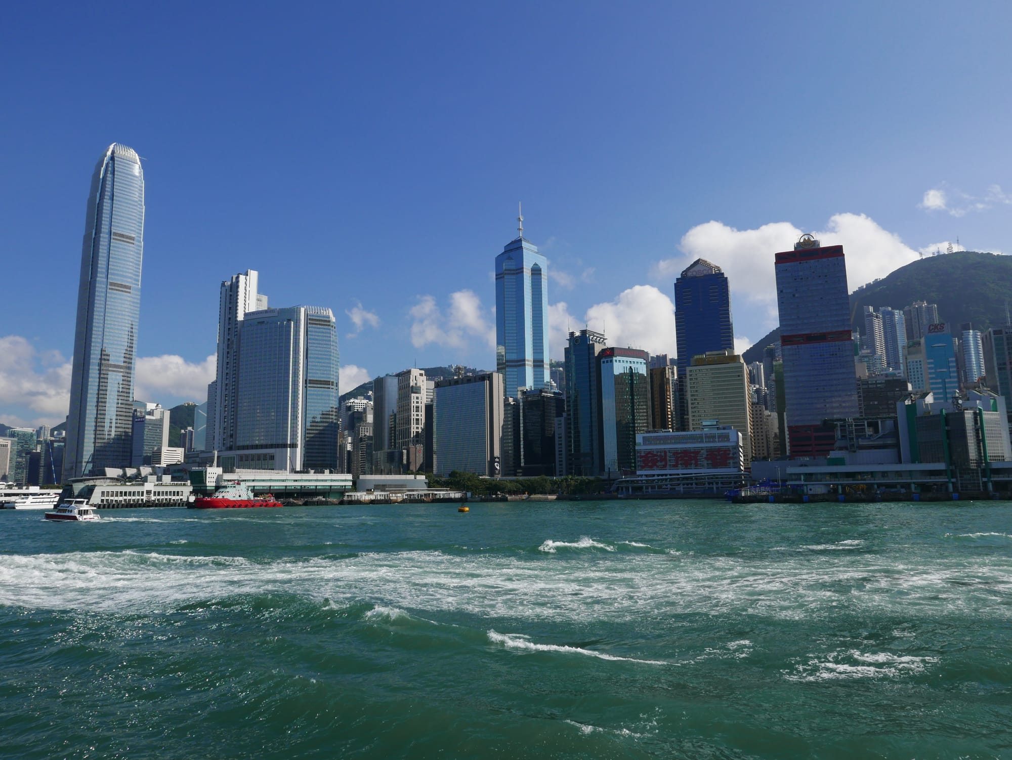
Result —
[[[208, 424], [208, 429], [214, 431], [214, 440], [207, 440], [207, 447], [212, 449], [228, 451], [236, 445], [239, 326], [247, 312], [267, 308], [267, 297], [257, 292], [259, 276], [253, 269], [247, 269], [245, 274], [234, 274], [232, 279], [222, 282], [218, 302], [218, 369], [215, 378], [215, 400], [213, 404], [207, 405], [208, 411], [214, 407], [215, 413], [214, 419]], [[208, 393], [210, 393], [209, 388]]]

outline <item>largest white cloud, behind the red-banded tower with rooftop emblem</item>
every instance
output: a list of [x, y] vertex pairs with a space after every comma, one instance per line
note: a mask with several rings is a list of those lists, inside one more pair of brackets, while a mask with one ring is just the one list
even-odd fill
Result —
[[[682, 255], [659, 261], [652, 274], [673, 279], [695, 259], [707, 259], [727, 273], [736, 301], [765, 309], [761, 329], [768, 329], [777, 323], [773, 254], [789, 251], [802, 234], [789, 222], [774, 222], [755, 230], [707, 222], [685, 233], [679, 244]], [[863, 214], [836, 214], [825, 230], [814, 234], [823, 245], [843, 245], [851, 290], [919, 258], [898, 235]]]

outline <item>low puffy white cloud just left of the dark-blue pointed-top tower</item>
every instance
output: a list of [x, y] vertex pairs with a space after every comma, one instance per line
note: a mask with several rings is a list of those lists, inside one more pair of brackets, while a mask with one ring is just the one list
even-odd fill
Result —
[[609, 346], [675, 353], [675, 305], [653, 285], [634, 285], [614, 301], [595, 304], [584, 321], [603, 332]]

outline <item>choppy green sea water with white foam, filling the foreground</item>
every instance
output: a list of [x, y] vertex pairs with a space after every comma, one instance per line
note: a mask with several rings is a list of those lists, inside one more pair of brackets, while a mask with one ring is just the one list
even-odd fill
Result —
[[0, 513], [5, 758], [1012, 757], [1012, 504]]

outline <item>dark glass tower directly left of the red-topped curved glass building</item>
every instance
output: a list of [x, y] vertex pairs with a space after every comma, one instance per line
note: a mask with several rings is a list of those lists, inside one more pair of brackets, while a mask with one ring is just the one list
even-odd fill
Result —
[[566, 346], [566, 435], [570, 475], [595, 477], [601, 467], [600, 389], [597, 354], [604, 336], [592, 330], [570, 333]]

